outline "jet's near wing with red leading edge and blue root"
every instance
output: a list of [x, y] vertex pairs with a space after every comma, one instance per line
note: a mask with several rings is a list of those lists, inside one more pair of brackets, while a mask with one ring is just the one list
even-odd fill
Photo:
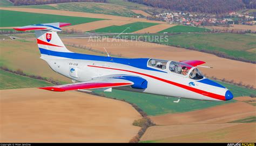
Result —
[[50, 90], [50, 91], [70, 91], [70, 90], [86, 90], [86, 89], [101, 89], [101, 88], [111, 88], [111, 87], [120, 87], [120, 86], [133, 86], [137, 89], [145, 89], [147, 82], [145, 79], [137, 76], [129, 75], [112, 75], [112, 76], [103, 76], [90, 81], [57, 85], [57, 86], [48, 86], [48, 87], [39, 87], [39, 89]]

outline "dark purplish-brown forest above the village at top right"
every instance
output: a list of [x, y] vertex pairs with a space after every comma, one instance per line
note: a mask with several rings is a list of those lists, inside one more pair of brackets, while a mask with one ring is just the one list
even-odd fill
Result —
[[256, 0], [128, 0], [156, 8], [184, 12], [226, 13], [248, 7], [256, 8]]

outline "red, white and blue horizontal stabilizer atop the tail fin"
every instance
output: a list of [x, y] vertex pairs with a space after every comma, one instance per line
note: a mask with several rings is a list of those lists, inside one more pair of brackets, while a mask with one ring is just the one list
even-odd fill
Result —
[[71, 25], [70, 23], [46, 23], [46, 24], [34, 24], [22, 27], [15, 27], [16, 31], [38, 31], [38, 30], [45, 30], [45, 31], [62, 31], [60, 27]]

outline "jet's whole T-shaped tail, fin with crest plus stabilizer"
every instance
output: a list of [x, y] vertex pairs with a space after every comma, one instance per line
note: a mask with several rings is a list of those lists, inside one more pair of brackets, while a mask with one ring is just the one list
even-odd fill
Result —
[[62, 40], [60, 40], [57, 32], [62, 31], [60, 27], [70, 25], [69, 23], [48, 23], [35, 24], [14, 28], [17, 31], [35, 31], [37, 45], [41, 54], [51, 55], [54, 52], [70, 52]]

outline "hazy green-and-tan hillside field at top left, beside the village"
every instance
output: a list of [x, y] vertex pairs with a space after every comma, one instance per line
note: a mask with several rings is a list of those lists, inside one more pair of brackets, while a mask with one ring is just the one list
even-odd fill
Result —
[[[8, 1], [4, 1], [4, 0], [2, 3], [3, 4], [0, 3], [1, 4], [0, 6], [12, 5], [12, 3], [10, 2], [8, 3]], [[149, 6], [127, 2], [127, 1], [108, 1], [107, 3], [91, 3], [91, 2], [75, 3], [74, 2], [74, 3], [58, 3], [58, 4], [46, 4], [46, 5], [23, 5], [23, 6], [15, 6], [15, 8], [35, 8], [35, 9], [100, 13], [100, 14], [110, 14], [110, 15], [122, 16], [122, 17], [134, 17], [134, 16], [144, 17], [149, 15], [145, 11], [150, 11], [150, 12], [154, 11]], [[135, 9], [135, 11], [133, 11], [133, 9]]]

